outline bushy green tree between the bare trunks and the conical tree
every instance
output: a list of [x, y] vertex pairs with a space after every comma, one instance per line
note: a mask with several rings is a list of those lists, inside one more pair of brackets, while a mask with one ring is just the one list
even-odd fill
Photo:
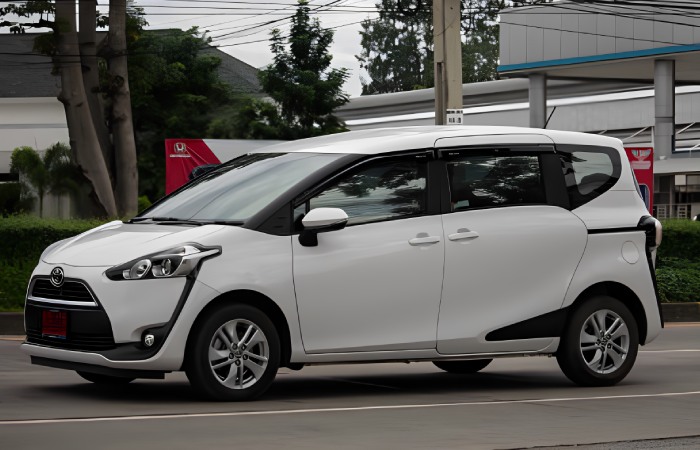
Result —
[[231, 137], [221, 122], [244, 100], [219, 78], [221, 59], [203, 52], [209, 41], [191, 28], [145, 31], [129, 44], [139, 170], [148, 174], [140, 177], [139, 192], [150, 199], [164, 194], [165, 138]]

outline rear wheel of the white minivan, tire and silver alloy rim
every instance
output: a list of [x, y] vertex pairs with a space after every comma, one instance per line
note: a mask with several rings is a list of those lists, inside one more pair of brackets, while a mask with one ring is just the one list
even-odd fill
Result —
[[574, 383], [612, 386], [632, 369], [638, 349], [637, 321], [630, 310], [613, 297], [598, 296], [573, 312], [556, 356]]

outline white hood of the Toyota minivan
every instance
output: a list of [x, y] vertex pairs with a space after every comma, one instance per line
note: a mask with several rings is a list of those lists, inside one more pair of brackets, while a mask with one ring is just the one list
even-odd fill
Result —
[[200, 243], [226, 225], [159, 225], [110, 222], [57, 242], [41, 256], [48, 264], [111, 267], [187, 243]]

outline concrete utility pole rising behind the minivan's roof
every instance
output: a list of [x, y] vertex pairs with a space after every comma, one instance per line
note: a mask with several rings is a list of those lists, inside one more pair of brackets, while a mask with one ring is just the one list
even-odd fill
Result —
[[461, 125], [463, 120], [460, 3], [433, 1], [435, 125]]

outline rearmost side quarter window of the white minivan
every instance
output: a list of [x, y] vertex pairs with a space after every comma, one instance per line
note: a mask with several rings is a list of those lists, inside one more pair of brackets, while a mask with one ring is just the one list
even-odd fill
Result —
[[608, 147], [558, 145], [571, 209], [585, 205], [617, 183], [622, 164], [617, 150]]

